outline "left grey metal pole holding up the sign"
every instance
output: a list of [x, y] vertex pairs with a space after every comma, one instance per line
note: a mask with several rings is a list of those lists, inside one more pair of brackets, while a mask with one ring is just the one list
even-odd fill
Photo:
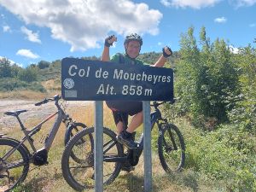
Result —
[[103, 191], [103, 102], [95, 102], [94, 175], [95, 191]]

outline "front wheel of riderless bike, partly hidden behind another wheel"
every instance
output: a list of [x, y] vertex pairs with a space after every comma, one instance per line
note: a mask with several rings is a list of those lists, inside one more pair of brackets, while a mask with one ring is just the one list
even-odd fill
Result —
[[[70, 138], [75, 136], [79, 131], [85, 129], [86, 127], [87, 127], [86, 125], [84, 125], [83, 123], [79, 123], [79, 122], [75, 122], [72, 125], [68, 126], [67, 131], [65, 133], [65, 139], [64, 139], [65, 146], [67, 145]], [[89, 136], [90, 136], [90, 143], [94, 143], [92, 135], [90, 134]], [[82, 146], [83, 143], [84, 143], [84, 141], [83, 141], [83, 139], [81, 139], [81, 141], [77, 144]], [[71, 152], [70, 156], [72, 157], [73, 160], [75, 160], [78, 163], [83, 162], [83, 160], [80, 160], [79, 157], [76, 156], [73, 152]]]

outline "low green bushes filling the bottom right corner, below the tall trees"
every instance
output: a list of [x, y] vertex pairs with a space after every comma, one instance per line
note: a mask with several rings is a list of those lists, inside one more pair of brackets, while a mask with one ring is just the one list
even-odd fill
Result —
[[223, 125], [205, 134], [190, 130], [185, 140], [187, 168], [226, 181], [231, 191], [255, 191], [255, 137]]

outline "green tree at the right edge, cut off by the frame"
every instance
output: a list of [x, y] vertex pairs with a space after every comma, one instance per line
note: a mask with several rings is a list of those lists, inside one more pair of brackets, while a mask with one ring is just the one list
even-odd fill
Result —
[[241, 92], [236, 96], [230, 118], [239, 125], [239, 129], [256, 135], [256, 49], [249, 44], [241, 48], [240, 53], [236, 56], [236, 62]]

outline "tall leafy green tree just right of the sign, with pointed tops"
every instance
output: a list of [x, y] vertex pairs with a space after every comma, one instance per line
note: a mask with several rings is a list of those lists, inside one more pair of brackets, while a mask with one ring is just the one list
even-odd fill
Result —
[[200, 126], [212, 119], [227, 122], [228, 111], [235, 103], [233, 95], [238, 90], [232, 54], [224, 40], [217, 39], [211, 44], [205, 27], [201, 28], [199, 49], [193, 33], [194, 28], [189, 27], [180, 40], [181, 59], [175, 79], [175, 90], [181, 97], [180, 109]]

